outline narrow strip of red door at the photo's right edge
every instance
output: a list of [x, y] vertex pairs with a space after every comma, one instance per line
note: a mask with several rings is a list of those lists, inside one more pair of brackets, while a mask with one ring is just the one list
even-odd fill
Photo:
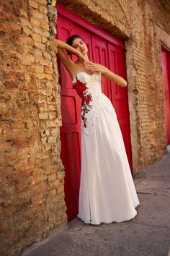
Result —
[[170, 144], [170, 53], [164, 47], [161, 51], [162, 74], [164, 82], [164, 101], [166, 111], [167, 145]]

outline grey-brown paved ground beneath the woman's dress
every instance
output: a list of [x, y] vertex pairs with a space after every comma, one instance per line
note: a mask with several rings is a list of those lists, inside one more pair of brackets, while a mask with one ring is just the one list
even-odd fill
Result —
[[140, 205], [132, 220], [92, 226], [75, 218], [22, 256], [170, 256], [170, 153], [134, 182]]

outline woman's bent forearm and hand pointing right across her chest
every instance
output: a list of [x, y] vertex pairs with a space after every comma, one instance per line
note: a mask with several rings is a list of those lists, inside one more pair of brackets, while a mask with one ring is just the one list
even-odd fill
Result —
[[104, 67], [101, 64], [89, 62], [88, 67], [91, 71], [101, 72], [104, 77], [107, 77], [108, 79], [110, 79], [112, 81], [115, 81], [118, 85], [121, 85], [122, 87], [127, 86], [127, 82], [125, 79], [120, 77], [118, 74], [115, 74], [114, 72], [110, 71], [109, 69], [107, 69], [107, 67]]

